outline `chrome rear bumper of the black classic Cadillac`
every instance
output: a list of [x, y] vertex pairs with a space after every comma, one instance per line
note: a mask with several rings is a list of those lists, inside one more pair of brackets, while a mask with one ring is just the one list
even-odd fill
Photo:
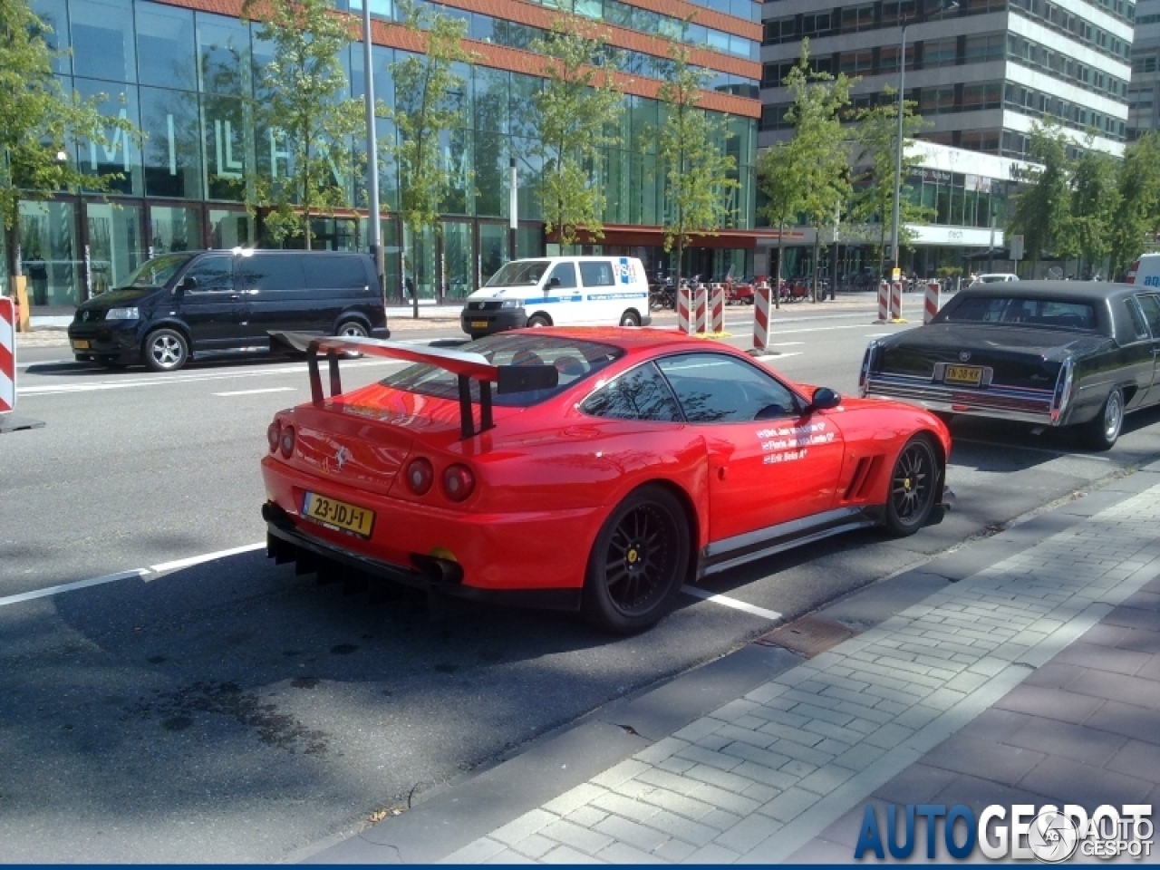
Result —
[[1058, 415], [1052, 419], [1052, 390], [998, 384], [984, 387], [947, 386], [929, 378], [871, 374], [865, 380], [864, 394], [901, 399], [947, 414], [989, 416], [1042, 426], [1058, 426], [1060, 422]]

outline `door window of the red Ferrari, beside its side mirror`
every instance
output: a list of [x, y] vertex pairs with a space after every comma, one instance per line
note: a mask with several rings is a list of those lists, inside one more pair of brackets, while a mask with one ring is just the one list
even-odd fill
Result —
[[793, 393], [755, 365], [724, 354], [683, 354], [658, 361], [690, 423], [776, 420], [798, 413]]

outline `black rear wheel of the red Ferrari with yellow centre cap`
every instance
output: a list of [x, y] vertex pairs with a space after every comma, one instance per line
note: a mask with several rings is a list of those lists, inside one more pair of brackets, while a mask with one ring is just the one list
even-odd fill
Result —
[[676, 601], [689, 564], [681, 502], [643, 486], [604, 521], [588, 557], [581, 610], [603, 631], [631, 635], [655, 625]]

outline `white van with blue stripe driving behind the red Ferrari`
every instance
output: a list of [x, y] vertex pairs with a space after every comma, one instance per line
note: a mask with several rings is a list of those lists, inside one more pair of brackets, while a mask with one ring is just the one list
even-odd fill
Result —
[[647, 326], [648, 281], [635, 256], [513, 260], [467, 297], [463, 331], [481, 335], [524, 326]]

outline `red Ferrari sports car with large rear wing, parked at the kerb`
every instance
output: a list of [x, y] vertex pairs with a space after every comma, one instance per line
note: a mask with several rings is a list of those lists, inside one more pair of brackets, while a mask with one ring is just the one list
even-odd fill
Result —
[[[274, 339], [310, 360], [312, 400], [277, 414], [262, 461], [269, 554], [302, 571], [632, 632], [683, 583], [848, 529], [911, 535], [949, 498], [933, 414], [672, 332], [527, 329], [455, 350]], [[416, 364], [343, 393], [350, 351]]]

